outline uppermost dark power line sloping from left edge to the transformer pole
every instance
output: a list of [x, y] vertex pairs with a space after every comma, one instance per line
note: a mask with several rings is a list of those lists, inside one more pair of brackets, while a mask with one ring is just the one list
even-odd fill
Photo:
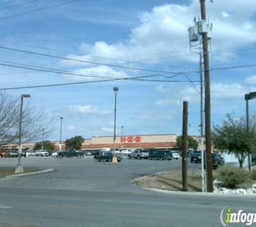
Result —
[[[136, 67], [128, 67], [128, 66], [118, 66], [118, 65], [108, 64], [108, 63], [100, 63], [100, 62], [85, 61], [85, 60], [72, 59], [72, 58], [65, 58], [65, 57], [56, 56], [56, 55], [43, 54], [43, 53], [37, 53], [37, 52], [32, 52], [32, 51], [24, 51], [24, 50], [21, 50], [21, 49], [9, 48], [9, 47], [3, 47], [3, 46], [0, 46], [0, 48], [8, 49], [9, 51], [17, 51], [17, 52], [22, 52], [22, 53], [27, 53], [27, 54], [47, 56], [47, 57], [50, 57], [50, 58], [63, 59], [63, 60], [68, 60], [68, 61], [77, 61], [77, 62], [82, 62], [82, 63], [91, 63], [93, 65], [100, 65], [100, 66], [110, 66], [110, 67], [117, 67], [117, 68], [124, 68], [124, 69], [133, 69], [133, 70], [141, 70], [141, 71], [147, 71], [147, 72], [155, 72], [155, 73], [167, 73], [167, 74], [176, 74], [177, 73], [177, 72], [168, 72], [168, 71], [145, 69], [145, 68], [136, 68]], [[183, 73], [198, 73], [198, 71], [183, 72]]]

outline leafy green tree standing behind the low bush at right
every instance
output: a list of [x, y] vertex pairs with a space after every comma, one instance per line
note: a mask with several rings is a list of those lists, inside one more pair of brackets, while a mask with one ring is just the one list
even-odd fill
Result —
[[252, 153], [256, 146], [256, 125], [252, 118], [250, 129], [247, 130], [244, 117], [234, 119], [231, 114], [226, 115], [222, 125], [213, 126], [213, 145], [228, 154], [234, 154], [239, 161], [240, 168], [248, 153]]

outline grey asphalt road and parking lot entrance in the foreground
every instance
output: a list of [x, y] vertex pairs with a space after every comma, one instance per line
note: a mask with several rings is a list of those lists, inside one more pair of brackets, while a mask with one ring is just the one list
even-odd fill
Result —
[[[0, 159], [0, 166], [14, 167], [16, 162]], [[219, 214], [226, 205], [255, 212], [255, 197], [165, 194], [131, 183], [142, 175], [181, 169], [181, 160], [112, 164], [92, 157], [28, 157], [22, 164], [56, 171], [0, 180], [1, 227], [213, 227], [221, 226]]]

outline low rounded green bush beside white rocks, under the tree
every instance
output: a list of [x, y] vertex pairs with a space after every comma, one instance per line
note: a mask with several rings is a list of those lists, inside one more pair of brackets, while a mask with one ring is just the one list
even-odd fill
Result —
[[222, 166], [219, 168], [218, 180], [226, 188], [236, 188], [239, 183], [249, 181], [250, 173], [242, 168]]

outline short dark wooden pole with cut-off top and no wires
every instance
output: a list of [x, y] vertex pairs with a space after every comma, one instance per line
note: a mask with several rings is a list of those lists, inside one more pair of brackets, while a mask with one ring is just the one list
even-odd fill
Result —
[[188, 191], [188, 102], [183, 102], [182, 189]]

